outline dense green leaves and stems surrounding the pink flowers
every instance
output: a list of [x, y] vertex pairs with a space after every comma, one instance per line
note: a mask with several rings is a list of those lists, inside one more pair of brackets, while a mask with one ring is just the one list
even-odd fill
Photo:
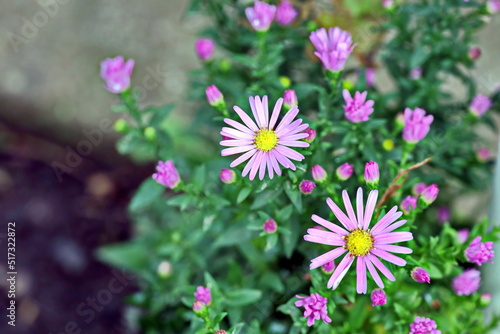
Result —
[[[437, 206], [450, 205], [456, 193], [483, 189], [491, 180], [491, 165], [476, 158], [482, 138], [474, 127], [494, 127], [494, 123], [489, 115], [469, 115], [478, 82], [465, 70], [474, 66], [468, 50], [484, 24], [484, 6], [474, 1], [419, 0], [396, 1], [387, 10], [371, 1], [345, 1], [345, 7], [335, 8], [360, 24], [350, 27], [355, 43], [363, 38], [367, 15], [375, 13], [376, 40], [385, 42], [374, 43], [369, 50], [358, 47], [357, 52], [368, 65], [379, 62], [387, 69], [394, 87], [389, 90], [378, 81], [369, 87], [364, 74], [354, 80], [352, 74], [363, 72], [362, 66], [335, 74], [321, 69], [310, 52], [308, 27], [322, 24], [330, 14], [318, 9], [314, 16], [315, 11], [308, 11], [312, 3], [300, 2], [303, 15], [293, 26], [274, 24], [266, 34], [257, 34], [247, 24], [240, 1], [191, 2], [187, 15], [212, 18], [213, 25], [202, 35], [214, 39], [224, 56], [191, 73], [188, 98], [202, 101], [205, 88], [215, 84], [225, 105], [198, 105], [188, 133], [176, 137], [203, 145], [186, 150], [172, 140], [171, 132], [177, 129], [166, 121], [175, 112], [173, 105], [141, 110], [135, 92], [121, 94], [122, 106], [115, 111], [127, 112], [133, 124], [126, 127], [119, 152], [138, 161], [174, 160], [182, 181], [170, 191], [146, 179], [129, 207], [137, 235], [128, 243], [102, 248], [99, 258], [139, 278], [141, 290], [127, 301], [141, 309], [144, 333], [201, 334], [219, 329], [235, 334], [405, 333], [416, 315], [432, 318], [443, 333], [486, 333], [499, 319], [485, 324], [479, 296], [457, 296], [450, 282], [469, 265], [464, 250], [472, 238], [494, 241], [499, 230], [488, 229], [488, 221], [478, 223], [476, 217], [458, 221], [455, 214], [445, 224], [438, 224], [435, 217]], [[409, 73], [416, 67], [422, 77], [411, 79]], [[282, 76], [290, 79], [291, 87], [283, 86]], [[445, 88], [450, 76], [458, 78], [467, 92], [458, 100]], [[242, 178], [238, 166], [236, 181], [223, 184], [218, 174], [229, 168], [230, 159], [211, 153], [220, 150], [219, 132], [225, 126], [221, 114], [238, 119], [226, 106], [238, 105], [249, 112], [249, 96], [267, 95], [272, 107], [288, 88], [297, 93], [299, 117], [317, 131], [309, 148], [297, 148], [306, 159], [296, 164], [295, 171], [282, 168], [281, 176], [263, 181]], [[368, 99], [375, 101], [370, 120], [345, 120], [344, 88], [351, 94], [368, 91]], [[498, 95], [491, 96], [495, 107]], [[402, 126], [395, 117], [406, 107], [417, 106], [434, 115], [434, 123], [427, 137], [411, 146], [402, 140]], [[429, 157], [432, 161], [425, 166], [407, 170]], [[402, 268], [387, 263], [396, 280], [383, 278], [387, 304], [376, 307], [368, 295], [356, 293], [354, 265], [336, 290], [327, 289], [330, 275], [320, 268], [309, 270], [308, 263], [332, 247], [302, 239], [315, 225], [312, 214], [337, 223], [326, 198], [345, 209], [341, 191], [346, 189], [354, 197], [364, 186], [364, 166], [370, 160], [380, 166], [380, 196], [391, 184], [397, 185], [376, 209], [377, 217], [399, 205], [418, 182], [436, 183], [441, 189], [429, 208], [419, 202], [417, 209], [403, 216], [407, 223], [399, 231], [413, 233], [414, 239], [405, 245], [413, 253], [402, 256], [407, 261]], [[340, 181], [335, 170], [346, 162], [353, 164], [354, 175]], [[325, 168], [328, 179], [318, 183], [311, 195], [303, 195], [299, 184], [312, 179], [315, 164]], [[270, 218], [278, 229], [267, 234], [262, 226]], [[465, 244], [458, 240], [457, 223], [472, 226]], [[158, 272], [164, 261], [171, 266], [168, 274]], [[429, 272], [430, 285], [411, 278], [414, 267]], [[195, 314], [193, 293], [199, 285], [211, 289], [212, 303], [205, 313]], [[369, 278], [368, 291], [374, 288]], [[328, 298], [331, 324], [316, 321], [307, 326], [303, 309], [294, 303], [297, 294], [310, 293]]]

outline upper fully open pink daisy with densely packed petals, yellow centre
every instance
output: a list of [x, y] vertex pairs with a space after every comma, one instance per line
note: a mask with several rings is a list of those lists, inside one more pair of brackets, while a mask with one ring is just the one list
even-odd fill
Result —
[[302, 124], [301, 119], [294, 121], [299, 108], [293, 106], [281, 119], [278, 125], [278, 116], [283, 104], [283, 98], [278, 99], [274, 106], [271, 118], [267, 105], [267, 96], [262, 100], [259, 96], [250, 97], [250, 107], [256, 122], [254, 122], [240, 107], [234, 106], [234, 111], [240, 116], [244, 124], [225, 118], [224, 122], [233, 128], [222, 128], [221, 135], [231, 137], [231, 140], [220, 142], [222, 146], [230, 146], [222, 150], [222, 156], [244, 153], [231, 163], [234, 168], [242, 162], [248, 161], [243, 169], [242, 176], [250, 173], [250, 180], [255, 178], [257, 171], [259, 179], [264, 179], [266, 167], [269, 177], [274, 173], [281, 175], [280, 165], [295, 170], [291, 160], [302, 161], [304, 156], [290, 147], [309, 147], [301, 141], [309, 136], [304, 130], [309, 126]]

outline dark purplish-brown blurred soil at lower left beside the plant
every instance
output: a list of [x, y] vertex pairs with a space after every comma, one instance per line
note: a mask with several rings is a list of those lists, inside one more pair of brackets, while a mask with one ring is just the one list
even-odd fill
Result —
[[[30, 158], [50, 146], [29, 135], [7, 139], [0, 150], [0, 333], [132, 333], [123, 298], [137, 282], [94, 253], [130, 237], [126, 207], [149, 167], [112, 169], [85, 161], [61, 181], [50, 161]], [[9, 222], [16, 230], [15, 327], [8, 325], [4, 278]]]

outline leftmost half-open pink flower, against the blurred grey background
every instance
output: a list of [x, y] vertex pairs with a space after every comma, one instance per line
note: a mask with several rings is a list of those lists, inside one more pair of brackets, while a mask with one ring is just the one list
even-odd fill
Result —
[[101, 78], [106, 81], [104, 88], [111, 93], [119, 94], [130, 87], [130, 76], [134, 70], [134, 60], [127, 62], [122, 56], [107, 58], [101, 62]]

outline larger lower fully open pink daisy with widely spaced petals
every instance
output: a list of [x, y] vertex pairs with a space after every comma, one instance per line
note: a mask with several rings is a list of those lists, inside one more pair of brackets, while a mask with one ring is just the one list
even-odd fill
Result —
[[342, 197], [344, 199], [347, 216], [330, 198], [326, 200], [326, 203], [343, 227], [333, 224], [317, 215], [312, 215], [311, 217], [316, 223], [326, 227], [330, 231], [321, 231], [311, 228], [307, 230], [308, 234], [304, 236], [304, 239], [310, 242], [337, 247], [312, 259], [310, 268], [318, 268], [347, 252], [346, 256], [340, 261], [330, 277], [327, 287], [335, 290], [342, 278], [347, 274], [354, 260], [357, 259], [357, 292], [366, 293], [367, 269], [375, 280], [375, 283], [383, 289], [384, 283], [380, 279], [375, 268], [384, 274], [387, 279], [394, 281], [395, 278], [379, 258], [398, 266], [404, 266], [406, 261], [390, 252], [410, 254], [412, 250], [407, 247], [391, 244], [411, 240], [413, 239], [413, 235], [411, 232], [392, 232], [406, 223], [406, 220], [396, 221], [402, 215], [402, 212], [398, 211], [397, 206], [394, 206], [386, 213], [373, 228], [369, 228], [377, 203], [377, 190], [370, 191], [366, 202], [366, 208], [364, 208], [363, 190], [361, 188], [358, 189], [356, 196], [357, 215], [354, 213], [347, 191], [344, 190], [342, 192]]

